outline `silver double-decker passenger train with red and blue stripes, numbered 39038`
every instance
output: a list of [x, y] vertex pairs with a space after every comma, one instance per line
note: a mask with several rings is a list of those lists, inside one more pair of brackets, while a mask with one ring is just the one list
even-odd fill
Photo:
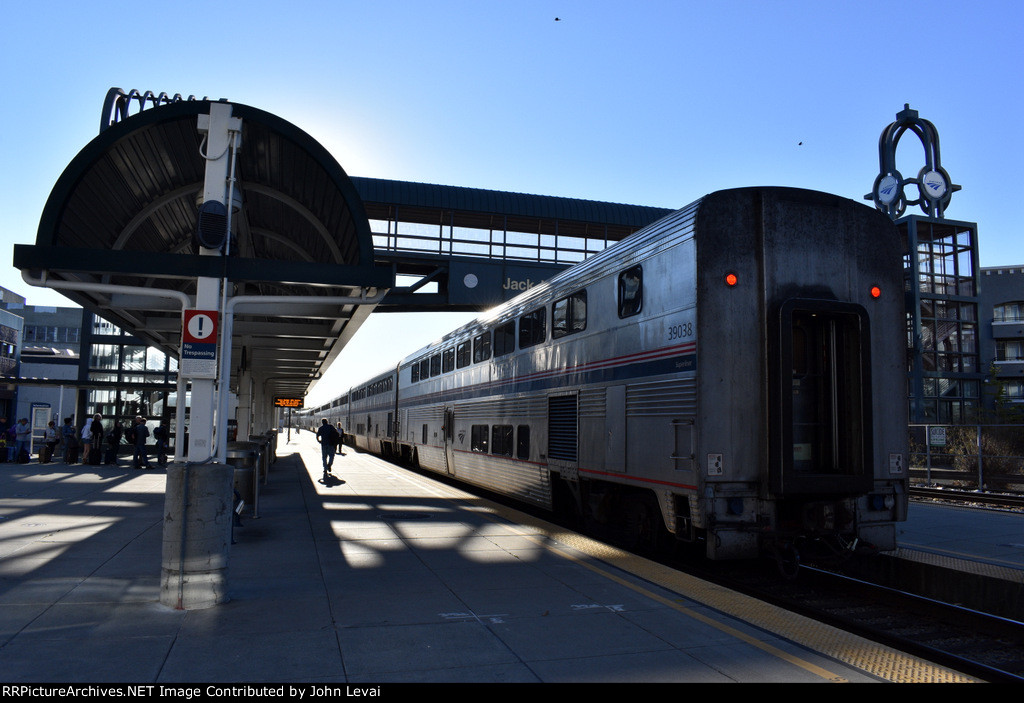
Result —
[[332, 412], [359, 448], [638, 541], [705, 540], [715, 559], [889, 550], [907, 506], [904, 338], [888, 218], [741, 188], [522, 293]]

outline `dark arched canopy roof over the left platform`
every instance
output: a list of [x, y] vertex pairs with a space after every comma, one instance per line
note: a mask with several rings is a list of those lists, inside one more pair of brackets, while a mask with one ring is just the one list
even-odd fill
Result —
[[211, 104], [180, 100], [104, 125], [60, 176], [36, 244], [16, 246], [14, 265], [175, 357], [181, 294], [195, 301], [198, 276], [226, 279], [240, 301], [232, 379], [251, 371], [263, 393], [302, 395], [394, 272], [374, 264], [362, 203], [335, 159], [289, 122], [237, 103], [229, 255], [201, 256], [198, 121]]

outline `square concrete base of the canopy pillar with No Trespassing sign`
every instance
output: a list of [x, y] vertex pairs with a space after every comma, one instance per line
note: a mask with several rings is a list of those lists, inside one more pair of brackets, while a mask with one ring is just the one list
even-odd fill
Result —
[[160, 602], [177, 610], [225, 603], [233, 467], [172, 464], [164, 497]]

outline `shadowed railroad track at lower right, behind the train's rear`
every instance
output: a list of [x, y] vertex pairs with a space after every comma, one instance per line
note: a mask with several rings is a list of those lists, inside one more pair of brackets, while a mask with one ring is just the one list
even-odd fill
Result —
[[[680, 568], [692, 573], [688, 565]], [[699, 571], [701, 578], [982, 680], [1024, 683], [1024, 623], [812, 566], [787, 579], [763, 564]]]

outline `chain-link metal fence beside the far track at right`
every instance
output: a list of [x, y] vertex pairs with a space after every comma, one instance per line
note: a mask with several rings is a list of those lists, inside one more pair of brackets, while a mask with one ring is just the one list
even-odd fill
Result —
[[910, 476], [929, 485], [1024, 491], [1024, 425], [910, 425]]

